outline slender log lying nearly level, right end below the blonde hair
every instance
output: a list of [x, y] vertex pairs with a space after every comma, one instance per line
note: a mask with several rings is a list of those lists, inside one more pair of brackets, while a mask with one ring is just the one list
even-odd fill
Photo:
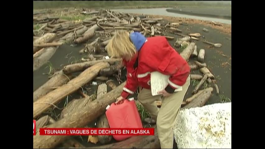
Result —
[[106, 59], [106, 60], [97, 60], [97, 61], [88, 61], [88, 62], [83, 62], [83, 63], [76, 63], [76, 64], [71, 64], [71, 65], [66, 65], [63, 67], [63, 72], [65, 74], [70, 74], [74, 72], [79, 72], [83, 71], [86, 68], [95, 65], [100, 62], [108, 62], [110, 65], [114, 64], [115, 62], [119, 62], [121, 59]]

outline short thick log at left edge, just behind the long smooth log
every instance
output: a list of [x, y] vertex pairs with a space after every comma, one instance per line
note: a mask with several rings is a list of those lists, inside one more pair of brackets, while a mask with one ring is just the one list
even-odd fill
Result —
[[40, 88], [33, 92], [33, 102], [46, 95], [50, 91], [54, 90], [55, 88], [66, 84], [72, 78], [72, 75], [65, 75], [62, 71], [57, 72], [52, 76], [51, 79], [49, 79], [45, 84], [43, 84]]

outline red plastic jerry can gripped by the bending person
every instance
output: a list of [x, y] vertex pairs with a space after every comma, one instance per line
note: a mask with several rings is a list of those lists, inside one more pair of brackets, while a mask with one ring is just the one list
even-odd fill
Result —
[[[106, 117], [110, 128], [143, 128], [142, 120], [137, 110], [134, 98], [112, 103], [106, 107]], [[130, 138], [132, 135], [113, 135], [117, 141]]]

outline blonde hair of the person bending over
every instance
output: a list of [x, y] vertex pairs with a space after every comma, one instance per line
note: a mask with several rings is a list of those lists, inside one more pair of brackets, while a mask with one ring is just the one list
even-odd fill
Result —
[[121, 58], [129, 55], [131, 58], [136, 53], [136, 48], [130, 40], [130, 33], [125, 30], [117, 30], [113, 38], [106, 46], [109, 56]]

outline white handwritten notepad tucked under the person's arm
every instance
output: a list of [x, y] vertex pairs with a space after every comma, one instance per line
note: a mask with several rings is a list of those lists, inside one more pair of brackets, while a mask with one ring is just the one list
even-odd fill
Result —
[[[165, 87], [168, 85], [168, 78], [169, 75], [161, 74], [158, 71], [151, 72], [151, 94], [152, 96], [160, 95], [157, 92], [165, 89]], [[182, 91], [182, 87], [175, 89], [175, 92]]]

